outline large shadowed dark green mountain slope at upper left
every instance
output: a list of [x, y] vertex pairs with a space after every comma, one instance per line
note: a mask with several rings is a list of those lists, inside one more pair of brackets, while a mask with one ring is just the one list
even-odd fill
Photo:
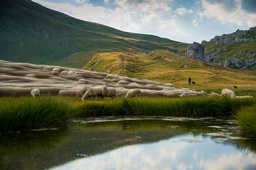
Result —
[[184, 52], [188, 44], [77, 20], [30, 0], [0, 1], [0, 59], [81, 68], [96, 52]]

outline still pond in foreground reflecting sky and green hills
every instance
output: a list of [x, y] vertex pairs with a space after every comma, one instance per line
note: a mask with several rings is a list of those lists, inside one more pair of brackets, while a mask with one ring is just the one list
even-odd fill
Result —
[[101, 117], [0, 134], [0, 169], [256, 169], [234, 119]]

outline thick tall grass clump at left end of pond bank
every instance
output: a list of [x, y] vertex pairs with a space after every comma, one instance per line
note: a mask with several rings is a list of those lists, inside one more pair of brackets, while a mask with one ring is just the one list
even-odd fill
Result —
[[0, 131], [50, 127], [65, 122], [72, 114], [66, 99], [0, 98]]

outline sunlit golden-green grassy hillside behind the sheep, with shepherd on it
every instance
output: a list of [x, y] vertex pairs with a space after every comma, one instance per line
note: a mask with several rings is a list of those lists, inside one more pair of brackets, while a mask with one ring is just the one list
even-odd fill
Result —
[[[145, 55], [131, 55], [123, 52], [96, 54], [83, 69], [104, 71], [111, 74], [136, 77], [160, 82], [171, 82], [175, 87], [194, 88], [220, 93], [221, 89], [239, 88], [236, 94], [256, 95], [256, 72], [233, 70], [206, 64], [171, 52], [155, 51]], [[188, 85], [188, 77], [196, 85]]]

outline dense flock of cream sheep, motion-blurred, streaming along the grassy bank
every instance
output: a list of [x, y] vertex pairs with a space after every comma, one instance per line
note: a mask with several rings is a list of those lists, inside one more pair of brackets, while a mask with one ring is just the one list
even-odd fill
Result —
[[150, 80], [72, 69], [60, 66], [35, 65], [0, 60], [0, 96], [52, 94], [77, 96], [82, 100], [104, 99], [117, 96], [183, 98], [193, 96], [250, 98], [235, 96], [234, 91], [222, 90], [222, 94], [187, 88], [176, 89], [172, 84]]

